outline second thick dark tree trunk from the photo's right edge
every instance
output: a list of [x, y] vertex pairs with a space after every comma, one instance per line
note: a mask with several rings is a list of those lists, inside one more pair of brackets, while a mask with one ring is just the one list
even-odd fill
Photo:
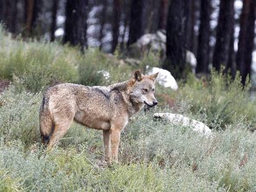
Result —
[[234, 0], [221, 0], [218, 19], [213, 67], [220, 71], [221, 65], [228, 64], [229, 41], [231, 40], [234, 20]]

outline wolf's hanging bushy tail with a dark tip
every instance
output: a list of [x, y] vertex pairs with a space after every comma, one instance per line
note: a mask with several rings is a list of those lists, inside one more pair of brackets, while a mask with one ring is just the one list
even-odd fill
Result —
[[49, 109], [49, 98], [43, 96], [43, 101], [40, 107], [40, 133], [42, 143], [46, 143], [53, 132], [53, 117]]

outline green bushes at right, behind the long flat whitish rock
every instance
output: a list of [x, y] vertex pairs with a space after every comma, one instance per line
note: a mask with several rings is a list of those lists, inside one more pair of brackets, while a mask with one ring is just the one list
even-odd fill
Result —
[[210, 80], [198, 80], [190, 75], [179, 90], [171, 93], [177, 103], [211, 128], [226, 128], [229, 124], [247, 121], [255, 127], [255, 100], [250, 98], [250, 84], [241, 85], [239, 75], [233, 81], [226, 75], [211, 73]]

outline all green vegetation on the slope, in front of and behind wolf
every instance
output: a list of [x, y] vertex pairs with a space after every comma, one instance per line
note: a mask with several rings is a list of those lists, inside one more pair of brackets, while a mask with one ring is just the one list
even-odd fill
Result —
[[[255, 102], [239, 79], [213, 72], [192, 75], [176, 92], [157, 86], [160, 106], [140, 112], [122, 132], [119, 164], [101, 165], [101, 131], [73, 124], [53, 152], [40, 144], [38, 109], [42, 90], [54, 82], [108, 85], [132, 70], [118, 55], [0, 33], [0, 78], [12, 80], [0, 95], [0, 191], [256, 191]], [[145, 67], [158, 64], [149, 54]], [[98, 70], [111, 74], [105, 80]], [[230, 82], [230, 83], [229, 83]], [[169, 107], [169, 98], [172, 106]], [[154, 112], [179, 112], [213, 129], [205, 138], [153, 120]]]

